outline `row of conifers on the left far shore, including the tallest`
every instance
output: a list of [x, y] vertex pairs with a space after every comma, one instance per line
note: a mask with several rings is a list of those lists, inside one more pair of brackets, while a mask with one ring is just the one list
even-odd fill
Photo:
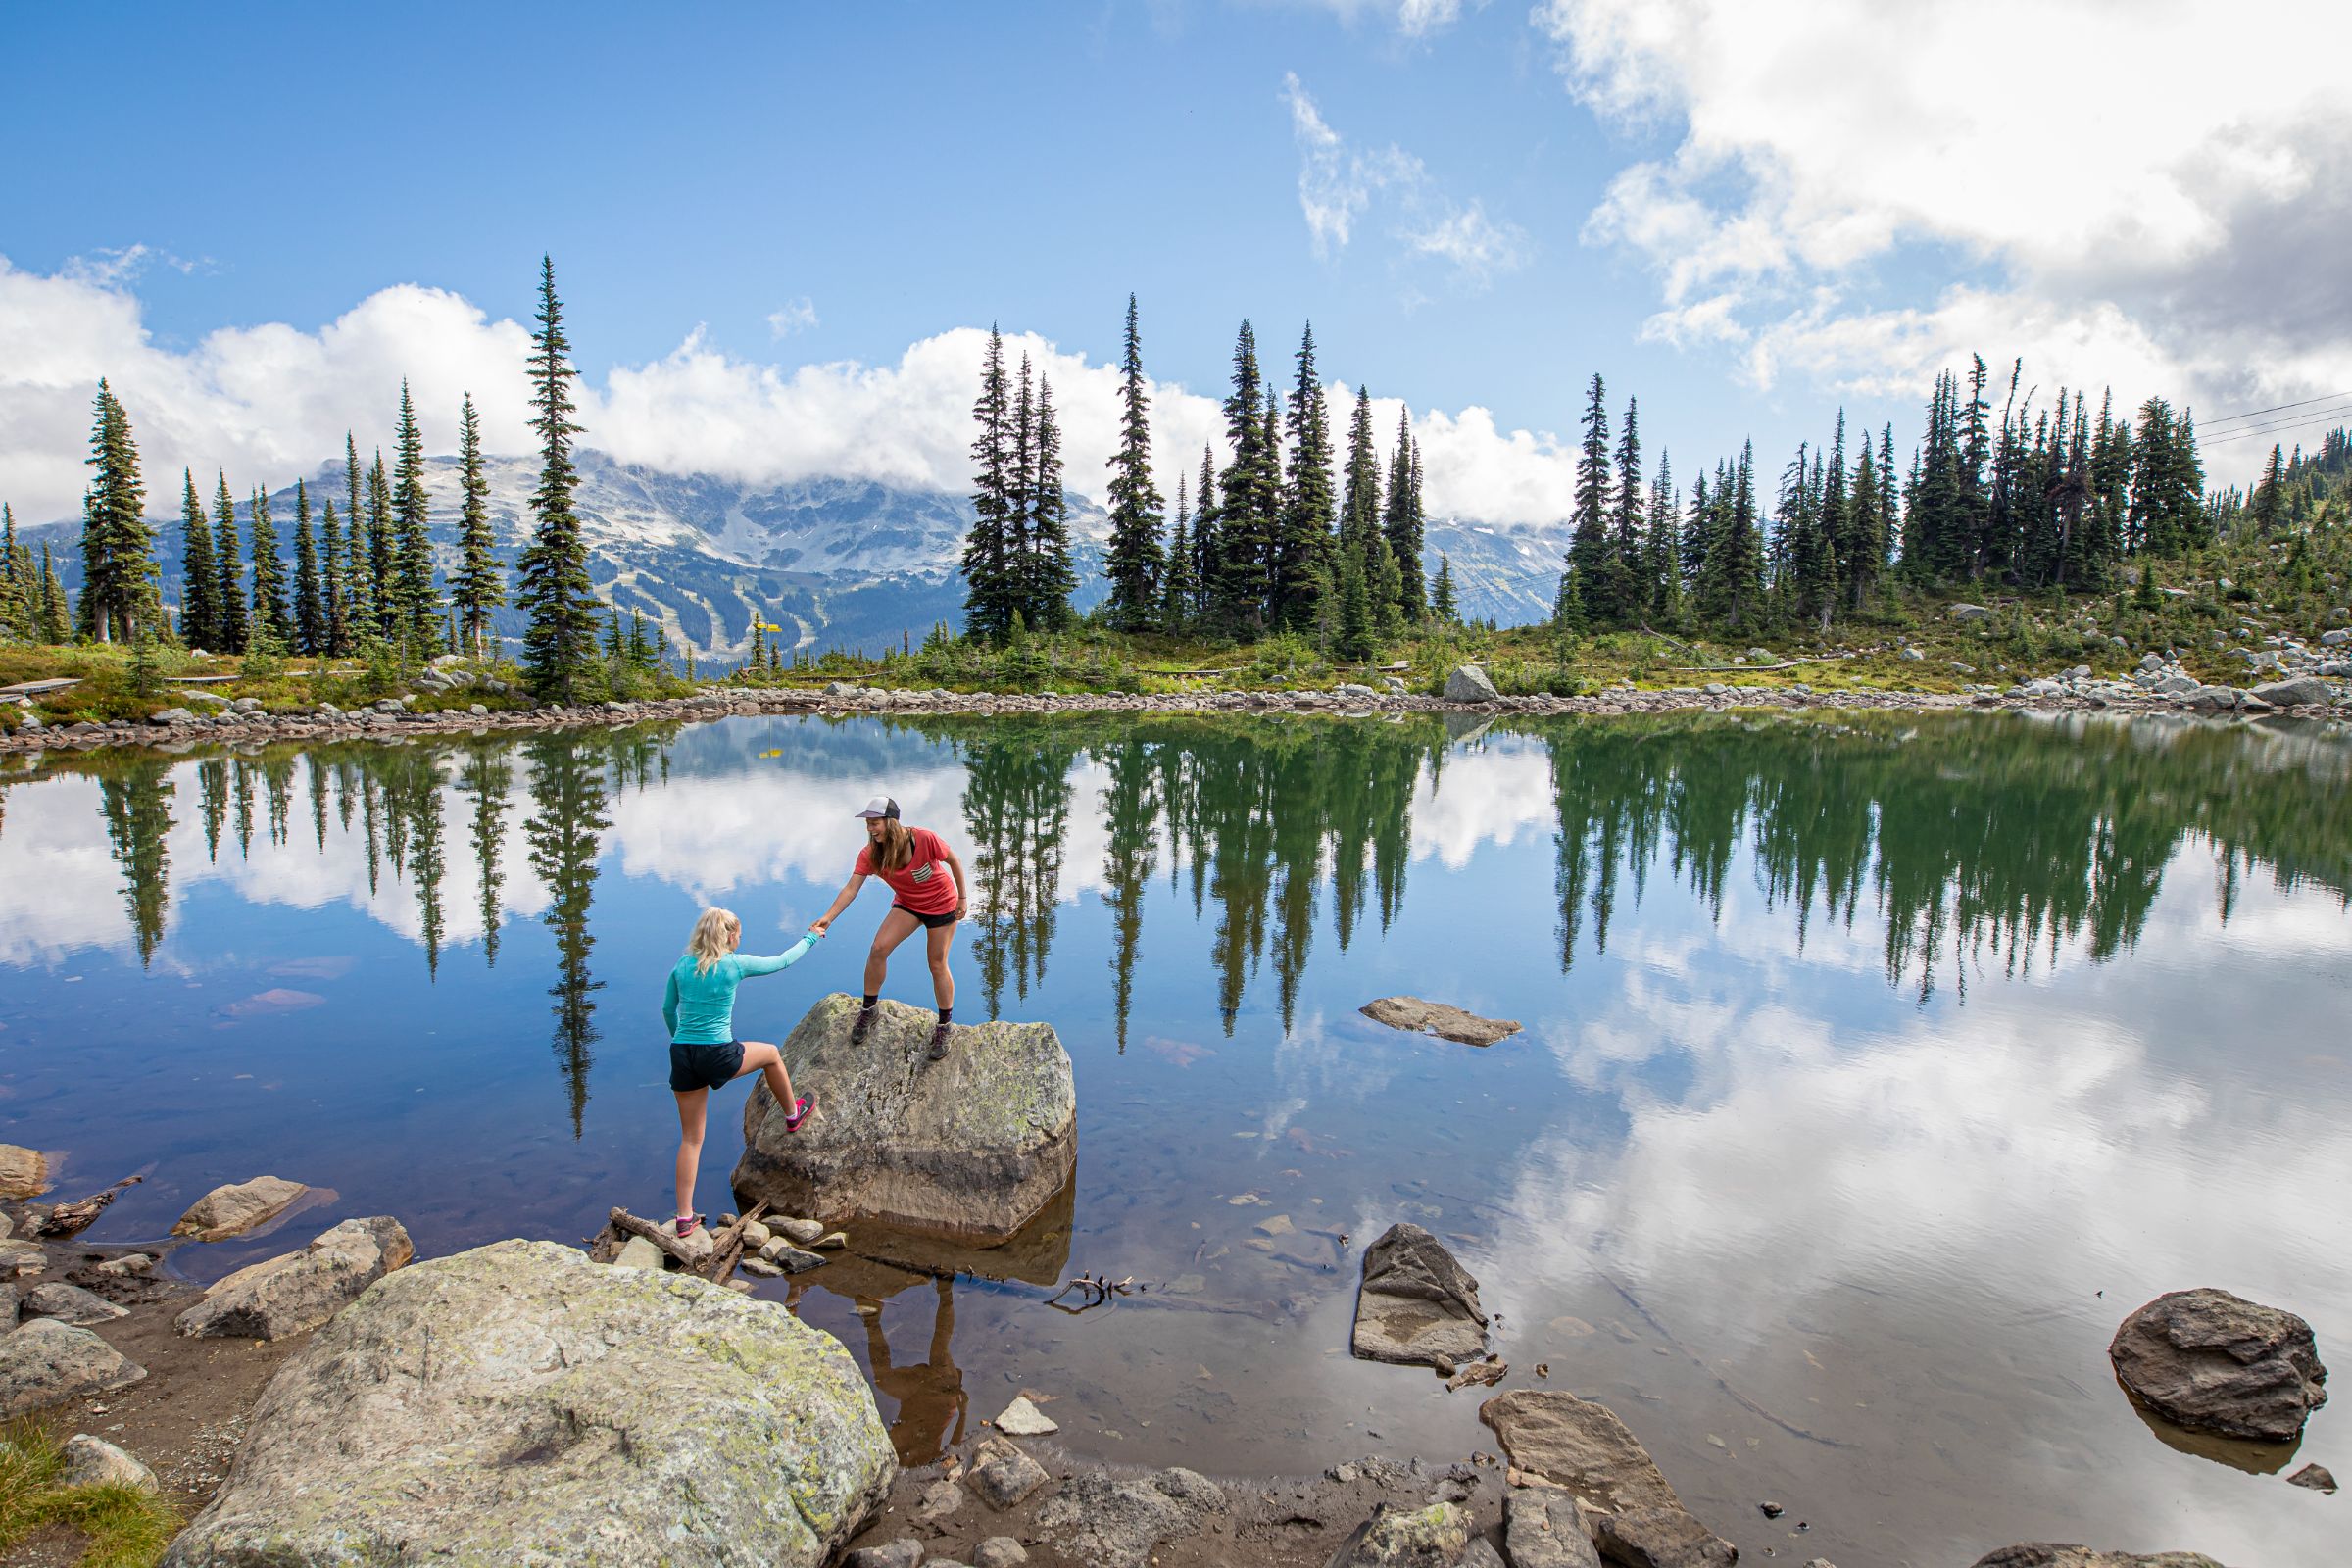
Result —
[[[572, 491], [572, 343], [555, 299], [555, 266], [541, 259], [539, 331], [532, 350], [532, 428], [541, 442], [541, 480], [532, 494], [534, 536], [515, 562], [515, 597], [529, 614], [524, 668], [539, 696], [572, 701], [579, 672], [597, 658], [597, 599], [588, 581], [588, 545]], [[1040, 402], [1040, 409], [1044, 404]], [[1033, 428], [1035, 430], [1035, 428]], [[1042, 416], [1037, 473], [1051, 473], [1058, 508], [1058, 437], [1051, 411]], [[383, 454], [360, 470], [360, 444], [343, 435], [343, 512], [327, 496], [313, 531], [310, 484], [294, 482], [292, 576], [270, 517], [268, 487], [245, 503], [247, 531], [238, 538], [238, 505], [228, 475], [214, 473], [212, 515], [198, 498], [195, 473], [181, 470], [181, 592], [179, 625], [162, 607], [155, 529], [143, 517], [139, 447], [129, 414], [106, 381], [89, 433], [92, 484], [82, 496], [82, 597], [68, 618], [68, 595], [42, 545], [40, 564], [16, 543], [16, 517], [0, 508], [0, 635], [26, 642], [94, 642], [179, 635], [186, 646], [216, 654], [306, 654], [341, 658], [388, 649], [402, 661], [442, 651], [489, 651], [489, 616], [506, 604], [506, 581], [489, 524], [489, 482], [482, 473], [482, 421], [466, 393], [459, 407], [459, 567], [447, 585], [433, 574], [426, 447], [400, 383], [393, 468]], [[1063, 548], [1068, 576], [1068, 548]], [[1068, 602], [1068, 585], [1061, 588]], [[644, 639], [642, 621], [628, 639], [609, 639], [609, 656], [649, 668], [668, 637]]]

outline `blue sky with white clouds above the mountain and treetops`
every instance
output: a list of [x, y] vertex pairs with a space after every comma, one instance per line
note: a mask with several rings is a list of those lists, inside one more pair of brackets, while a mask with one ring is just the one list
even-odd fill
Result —
[[[2211, 411], [2352, 386], [2347, 331], [2293, 360], [2246, 350], [2246, 334], [2277, 334], [2270, 284], [2237, 282], [2244, 308], [2201, 313], [2220, 320], [2164, 303], [2225, 263], [2244, 270], [2239, 230], [2260, 216], [2244, 212], [2249, 181], [2197, 174], [2223, 129], [2246, 139], [2251, 122], [2249, 158], [2286, 148], [2310, 165], [2300, 183], [2272, 176], [2279, 202], [2307, 209], [2324, 188], [2352, 139], [2317, 78], [2312, 94], [2187, 110], [2213, 125], [2110, 169], [2112, 205], [2084, 200], [2079, 174], [2074, 195], [2023, 172], [1971, 190], [1950, 143], [1976, 125], [1971, 162], [2009, 158], [1999, 87], [1940, 108], [1936, 78], [1905, 85], [1893, 54], [1905, 40], [1933, 54], [1929, 24], [1882, 33], [1886, 56], [1870, 59], [1882, 9], [1788, 7], [1785, 26], [1750, 31], [1780, 9], [416, 5], [386, 26], [358, 7], [7, 7], [0, 54], [24, 68], [0, 120], [0, 284], [26, 296], [0, 334], [38, 341], [0, 348], [80, 374], [106, 350], [47, 341], [75, 301], [33, 284], [129, 301], [158, 369], [113, 374], [165, 404], [160, 421], [188, 430], [172, 461], [195, 463], [223, 461], [212, 447], [294, 461], [308, 416], [322, 430], [327, 414], [360, 418], [315, 407], [336, 400], [318, 390], [339, 386], [325, 364], [296, 397], [310, 407], [280, 409], [294, 393], [254, 390], [252, 371], [207, 355], [214, 334], [322, 334], [397, 284], [527, 320], [541, 252], [590, 383], [696, 331], [706, 357], [753, 376], [889, 367], [988, 322], [1101, 362], [1134, 289], [1148, 369], [1195, 393], [1221, 390], [1244, 315], [1284, 369], [1312, 317], [1327, 376], [1416, 418], [1477, 404], [1538, 447], [1573, 430], [1597, 369], [1613, 404], [1644, 400], [1651, 454], [1670, 444], [1684, 477], [1748, 435], [1778, 465], [1839, 402], [1893, 418], [1907, 447], [1926, 376], [1971, 346], [2025, 353], [2027, 381], [2114, 381], [2126, 400], [2161, 390]], [[2025, 12], [1987, 9], [1952, 35], [1952, 78], [1971, 73], [1969, 49], [2016, 42], [2004, 28]], [[2192, 19], [2150, 26], [2173, 54], [2192, 33]], [[1792, 33], [1853, 40], [1860, 59], [1750, 66], [1771, 63], [1759, 38]], [[2077, 92], [2107, 110], [2093, 120], [2129, 118], [2161, 87], [2124, 80], [2131, 66]], [[1863, 92], [1872, 82], [1884, 92]], [[1957, 195], [1922, 205], [1912, 183]], [[2166, 197], [2220, 242], [2131, 249], [2131, 226]], [[2079, 233], [2049, 242], [2067, 226]], [[2110, 254], [2136, 263], [2086, 266]], [[433, 353], [419, 341], [405, 374], [437, 386]], [[165, 362], [191, 357], [200, 371], [167, 388]], [[35, 414], [28, 371], [12, 402], [9, 374], [0, 449], [54, 447], [68, 425]], [[240, 418], [200, 437], [212, 416], [174, 400], [207, 390]], [[273, 421], [285, 456], [249, 430]], [[644, 456], [699, 454], [680, 437]], [[54, 489], [12, 461], [0, 451], [0, 491]], [[1461, 454], [1465, 475], [1482, 461]], [[1461, 482], [1463, 510], [1541, 510], [1491, 501], [1512, 489], [1491, 480]]]

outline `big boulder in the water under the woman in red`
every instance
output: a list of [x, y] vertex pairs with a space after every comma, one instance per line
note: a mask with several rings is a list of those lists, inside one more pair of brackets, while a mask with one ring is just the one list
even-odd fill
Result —
[[858, 999], [821, 999], [783, 1041], [793, 1088], [816, 1098], [797, 1133], [762, 1081], [743, 1107], [734, 1190], [826, 1225], [1002, 1241], [1077, 1168], [1070, 1053], [1044, 1023], [957, 1025], [927, 1060], [934, 1013], [882, 1001], [858, 1044]]

